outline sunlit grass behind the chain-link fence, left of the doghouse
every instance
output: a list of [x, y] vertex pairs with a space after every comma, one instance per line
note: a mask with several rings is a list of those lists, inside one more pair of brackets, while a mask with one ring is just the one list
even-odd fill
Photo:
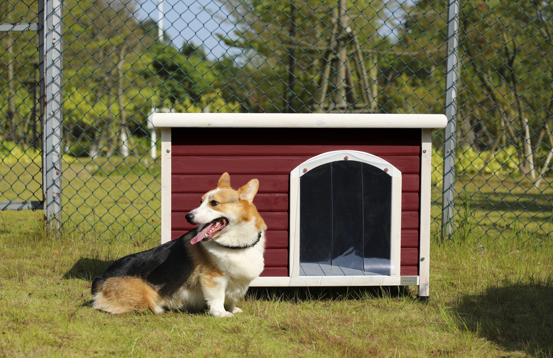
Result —
[[[159, 159], [64, 156], [62, 169], [62, 220], [68, 232], [106, 243], [159, 237]], [[36, 164], [0, 162], [0, 201], [40, 200], [41, 182]]]

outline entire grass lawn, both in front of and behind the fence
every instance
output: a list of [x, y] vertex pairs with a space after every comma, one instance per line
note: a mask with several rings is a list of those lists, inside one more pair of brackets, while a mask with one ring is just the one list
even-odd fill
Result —
[[[493, 176], [456, 183], [453, 240], [434, 222], [428, 303], [414, 287], [257, 288], [233, 319], [92, 310], [91, 279], [159, 243], [158, 164], [64, 157], [61, 240], [40, 210], [0, 212], [0, 356], [553, 355], [553, 187]], [[0, 199], [40, 189], [38, 170], [0, 164]]]

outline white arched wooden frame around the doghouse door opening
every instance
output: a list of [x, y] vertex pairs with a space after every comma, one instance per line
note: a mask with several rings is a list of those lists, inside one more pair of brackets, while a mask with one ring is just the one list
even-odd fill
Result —
[[[300, 178], [310, 170], [333, 161], [353, 160], [382, 169], [392, 177], [392, 215], [390, 228], [390, 261], [392, 273], [399, 276], [401, 246], [401, 172], [384, 159], [357, 150], [335, 150], [314, 156], [290, 172], [290, 277], [300, 273]], [[375, 275], [380, 276], [380, 275]], [[343, 277], [343, 276], [336, 276]]]

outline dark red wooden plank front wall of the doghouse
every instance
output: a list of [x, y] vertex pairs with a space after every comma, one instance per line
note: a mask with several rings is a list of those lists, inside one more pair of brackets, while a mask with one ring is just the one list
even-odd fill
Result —
[[[229, 144], [236, 141], [247, 145]], [[171, 239], [194, 228], [184, 216], [216, 187], [223, 172], [231, 175], [235, 189], [258, 178], [254, 204], [268, 227], [262, 276], [288, 276], [289, 173], [333, 150], [368, 152], [401, 171], [400, 270], [417, 275], [420, 129], [173, 128]]]

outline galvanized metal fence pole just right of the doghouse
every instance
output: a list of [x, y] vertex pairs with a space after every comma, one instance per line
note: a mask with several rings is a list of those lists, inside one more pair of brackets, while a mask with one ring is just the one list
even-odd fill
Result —
[[455, 199], [455, 147], [457, 133], [457, 77], [459, 58], [459, 0], [449, 0], [447, 9], [447, 69], [446, 117], [444, 130], [444, 188], [442, 206], [442, 240], [453, 233], [453, 205]]

